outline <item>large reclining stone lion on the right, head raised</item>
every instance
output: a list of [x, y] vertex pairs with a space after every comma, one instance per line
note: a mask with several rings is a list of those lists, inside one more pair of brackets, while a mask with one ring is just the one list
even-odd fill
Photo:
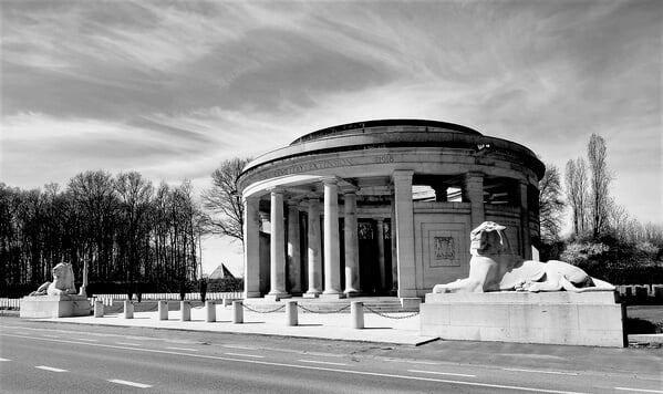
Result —
[[522, 260], [511, 251], [505, 229], [494, 221], [484, 221], [472, 230], [469, 276], [436, 284], [433, 292], [614, 291], [612, 284], [567, 262]]

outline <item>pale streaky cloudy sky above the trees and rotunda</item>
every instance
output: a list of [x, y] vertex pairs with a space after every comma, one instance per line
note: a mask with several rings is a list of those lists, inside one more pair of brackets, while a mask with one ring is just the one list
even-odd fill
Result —
[[[462, 124], [555, 165], [608, 146], [663, 224], [663, 1], [0, 0], [0, 182], [137, 170], [197, 190], [224, 159], [377, 118]], [[204, 271], [242, 270], [208, 239]]]

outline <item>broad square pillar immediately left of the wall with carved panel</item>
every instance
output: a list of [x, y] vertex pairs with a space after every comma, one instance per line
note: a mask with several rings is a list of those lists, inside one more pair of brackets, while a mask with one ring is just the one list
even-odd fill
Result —
[[396, 227], [392, 234], [396, 238], [398, 265], [398, 297], [416, 297], [414, 268], [414, 205], [412, 203], [412, 170], [395, 170], [394, 199]]

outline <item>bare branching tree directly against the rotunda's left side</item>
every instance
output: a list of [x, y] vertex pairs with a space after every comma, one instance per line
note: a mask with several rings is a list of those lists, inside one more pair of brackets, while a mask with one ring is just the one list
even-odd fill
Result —
[[207, 227], [211, 234], [239, 239], [244, 243], [244, 206], [237, 191], [237, 177], [250, 158], [221, 163], [211, 173], [211, 188], [203, 193], [203, 206], [209, 212]]

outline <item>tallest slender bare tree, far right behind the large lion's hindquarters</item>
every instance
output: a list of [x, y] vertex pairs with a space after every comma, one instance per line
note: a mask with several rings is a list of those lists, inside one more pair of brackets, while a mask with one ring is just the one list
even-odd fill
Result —
[[610, 205], [608, 186], [612, 180], [605, 162], [605, 141], [598, 134], [592, 134], [587, 146], [587, 156], [591, 169], [590, 226], [592, 235], [598, 237], [608, 225]]

